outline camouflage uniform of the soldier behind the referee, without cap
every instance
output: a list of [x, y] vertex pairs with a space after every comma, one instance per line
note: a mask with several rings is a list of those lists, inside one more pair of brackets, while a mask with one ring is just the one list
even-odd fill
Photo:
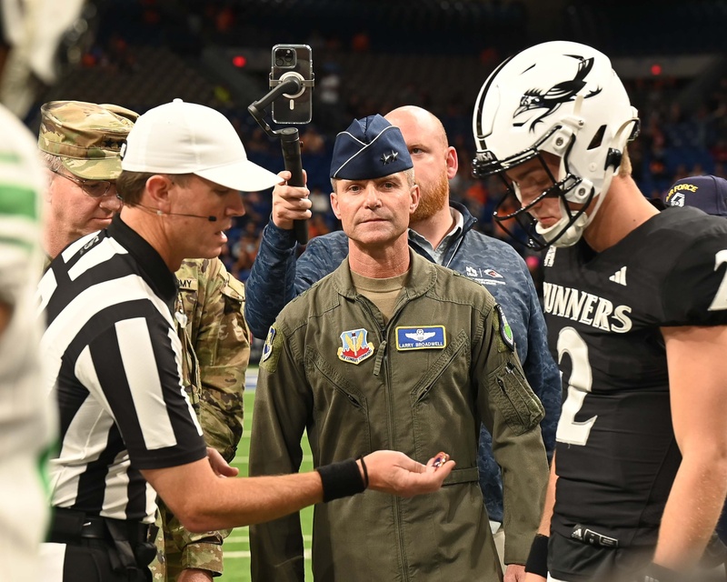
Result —
[[[191, 370], [197, 370], [192, 392], [204, 439], [225, 460], [232, 461], [243, 434], [244, 374], [250, 357], [249, 331], [244, 321], [244, 286], [227, 273], [218, 259], [187, 260], [177, 271], [180, 280]], [[189, 356], [189, 354], [185, 354]], [[185, 383], [186, 383], [185, 378]], [[190, 384], [195, 383], [194, 375]], [[185, 568], [219, 576], [222, 542], [230, 530], [192, 534], [167, 507], [161, 507], [167, 579]]]

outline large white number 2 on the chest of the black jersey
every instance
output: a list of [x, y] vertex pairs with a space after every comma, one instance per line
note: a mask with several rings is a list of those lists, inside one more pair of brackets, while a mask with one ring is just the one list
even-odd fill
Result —
[[558, 430], [555, 433], [555, 440], [559, 443], [569, 445], [585, 445], [588, 435], [591, 433], [593, 423], [598, 416], [593, 416], [586, 421], [576, 422], [575, 415], [581, 410], [583, 400], [591, 392], [593, 376], [591, 364], [588, 361], [588, 346], [583, 337], [573, 327], [563, 327], [558, 334], [558, 365], [563, 361], [563, 355], [571, 357], [571, 377], [568, 382], [568, 396], [563, 402], [561, 419], [558, 422]]

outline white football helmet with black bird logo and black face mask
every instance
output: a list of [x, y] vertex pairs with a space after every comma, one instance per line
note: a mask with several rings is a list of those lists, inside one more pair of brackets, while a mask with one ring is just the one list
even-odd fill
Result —
[[[560, 172], [551, 175], [552, 187], [516, 212], [501, 216], [495, 211], [494, 218], [516, 218], [528, 246], [571, 246], [601, 206], [638, 126], [638, 113], [606, 55], [566, 41], [535, 45], [499, 65], [480, 89], [473, 113], [473, 174], [501, 176], [522, 203], [504, 172], [534, 158], [547, 171], [541, 153], [558, 156]], [[559, 196], [562, 212], [548, 228], [527, 214], [544, 196]], [[572, 209], [568, 203], [583, 207]]]

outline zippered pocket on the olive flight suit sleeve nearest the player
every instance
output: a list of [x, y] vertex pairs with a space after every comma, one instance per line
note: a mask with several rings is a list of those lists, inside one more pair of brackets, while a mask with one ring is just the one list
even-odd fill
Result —
[[493, 404], [516, 435], [531, 430], [543, 418], [543, 405], [513, 362], [504, 362], [490, 373], [488, 386]]

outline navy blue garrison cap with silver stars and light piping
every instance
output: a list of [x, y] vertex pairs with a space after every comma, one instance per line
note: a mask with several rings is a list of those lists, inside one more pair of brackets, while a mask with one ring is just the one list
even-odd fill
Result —
[[343, 180], [373, 180], [413, 167], [402, 131], [381, 115], [354, 119], [348, 129], [335, 136], [331, 177]]

